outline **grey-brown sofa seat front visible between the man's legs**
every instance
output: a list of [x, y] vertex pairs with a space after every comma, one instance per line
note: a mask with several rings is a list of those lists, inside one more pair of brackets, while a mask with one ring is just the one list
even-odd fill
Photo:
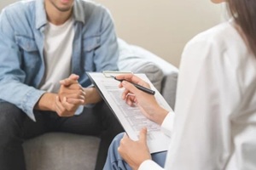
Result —
[[95, 168], [100, 139], [71, 133], [45, 133], [23, 144], [26, 169]]

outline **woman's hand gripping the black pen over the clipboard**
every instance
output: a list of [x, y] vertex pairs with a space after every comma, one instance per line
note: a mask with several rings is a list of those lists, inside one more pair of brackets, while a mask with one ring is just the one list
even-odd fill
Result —
[[137, 89], [134, 85], [131, 84], [131, 82], [133, 82], [145, 88], [150, 88], [147, 82], [144, 82], [141, 78], [132, 74], [119, 75], [116, 77], [116, 79], [127, 80], [122, 81], [119, 84], [119, 87], [125, 88], [125, 91], [122, 94], [122, 99], [124, 99], [128, 105], [136, 104], [141, 109], [141, 111], [143, 111], [143, 114], [153, 122], [161, 124], [164, 121], [168, 111], [160, 107], [154, 98], [154, 95], [144, 93], [142, 90]]

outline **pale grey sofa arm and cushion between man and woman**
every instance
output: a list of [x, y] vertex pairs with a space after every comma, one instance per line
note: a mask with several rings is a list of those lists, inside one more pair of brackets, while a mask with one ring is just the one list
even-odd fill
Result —
[[119, 70], [145, 73], [154, 84], [154, 87], [160, 91], [160, 94], [163, 95], [167, 103], [174, 109], [177, 68], [144, 48], [130, 45], [122, 39], [118, 41]]

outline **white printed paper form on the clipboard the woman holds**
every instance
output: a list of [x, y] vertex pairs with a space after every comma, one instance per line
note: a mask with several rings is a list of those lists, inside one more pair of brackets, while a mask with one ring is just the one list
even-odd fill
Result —
[[[143, 112], [139, 110], [137, 105], [127, 105], [125, 101], [121, 99], [124, 88], [119, 88], [119, 81], [114, 80], [112, 77], [105, 77], [102, 73], [89, 72], [87, 74], [96, 87], [101, 91], [103, 98], [118, 117], [119, 122], [125, 128], [125, 132], [131, 139], [138, 140], [140, 130], [143, 127], [147, 127], [147, 142], [150, 153], [168, 149], [171, 139], [161, 132], [160, 126], [148, 120], [146, 116], [143, 116]], [[145, 74], [136, 75], [150, 84], [151, 89], [155, 91], [154, 97], [159, 104], [167, 111], [172, 111], [172, 108], [167, 104], [166, 100], [157, 89], [154, 88], [153, 84], [148, 80], [148, 77], [146, 77]]]

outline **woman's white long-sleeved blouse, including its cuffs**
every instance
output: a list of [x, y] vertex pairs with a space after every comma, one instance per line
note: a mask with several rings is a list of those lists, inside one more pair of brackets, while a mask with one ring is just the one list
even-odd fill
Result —
[[[232, 23], [184, 48], [175, 109], [165, 169], [256, 169], [256, 58]], [[148, 160], [139, 169], [162, 168]]]

